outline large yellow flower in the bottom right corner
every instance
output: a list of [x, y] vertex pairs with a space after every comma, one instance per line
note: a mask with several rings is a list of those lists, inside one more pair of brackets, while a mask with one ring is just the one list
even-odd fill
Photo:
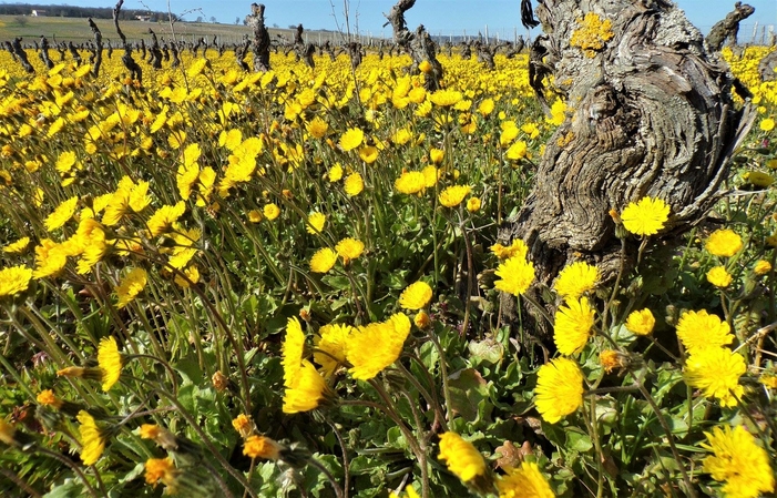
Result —
[[725, 482], [726, 497], [757, 498], [775, 490], [769, 454], [744, 427], [714, 427], [712, 434], [704, 435], [708, 443], [702, 443], [702, 447], [713, 453], [704, 459], [704, 471]]

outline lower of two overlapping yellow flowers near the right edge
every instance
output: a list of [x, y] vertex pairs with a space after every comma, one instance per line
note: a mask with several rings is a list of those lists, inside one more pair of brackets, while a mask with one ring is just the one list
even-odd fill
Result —
[[725, 347], [695, 349], [685, 362], [686, 384], [702, 389], [707, 398], [718, 398], [722, 406], [736, 406], [745, 392], [739, 377], [747, 369], [745, 358]]

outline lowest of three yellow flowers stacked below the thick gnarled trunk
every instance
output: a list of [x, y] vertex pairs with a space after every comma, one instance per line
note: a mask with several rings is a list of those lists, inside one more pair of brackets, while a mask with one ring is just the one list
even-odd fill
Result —
[[536, 373], [534, 404], [542, 418], [555, 424], [583, 404], [583, 373], [573, 359], [555, 358]]

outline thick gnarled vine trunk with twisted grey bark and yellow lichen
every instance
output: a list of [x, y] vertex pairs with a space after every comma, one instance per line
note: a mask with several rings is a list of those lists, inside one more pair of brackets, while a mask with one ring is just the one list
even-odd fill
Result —
[[[526, 242], [540, 284], [579, 260], [607, 281], [621, 265], [609, 212], [660, 197], [672, 210], [660, 236], [687, 231], [718, 200], [754, 116], [735, 106], [726, 63], [669, 1], [544, 0], [534, 12], [546, 34], [531, 49], [530, 81], [543, 103], [563, 99], [568, 115], [500, 238]], [[502, 299], [508, 313], [511, 303]]]

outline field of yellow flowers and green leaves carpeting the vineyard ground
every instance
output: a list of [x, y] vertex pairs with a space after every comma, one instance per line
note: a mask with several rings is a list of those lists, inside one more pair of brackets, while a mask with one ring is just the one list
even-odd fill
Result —
[[621, 206], [636, 271], [564, 268], [548, 338], [499, 313], [566, 119], [525, 54], [442, 55], [430, 93], [407, 57], [0, 52], [0, 494], [774, 492], [767, 51], [725, 53], [760, 114], [709, 221], [665, 243], [660, 199]]

